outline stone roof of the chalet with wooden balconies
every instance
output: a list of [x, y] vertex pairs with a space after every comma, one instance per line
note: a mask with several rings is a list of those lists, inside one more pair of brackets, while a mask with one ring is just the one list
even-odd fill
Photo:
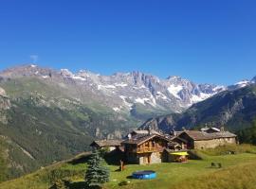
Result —
[[121, 144], [130, 144], [130, 145], [140, 145], [154, 137], [158, 137], [158, 138], [162, 138], [168, 142], [170, 142], [170, 140], [162, 135], [159, 134], [137, 134], [135, 136], [133, 136], [131, 139], [127, 139], [125, 141], [123, 141]]

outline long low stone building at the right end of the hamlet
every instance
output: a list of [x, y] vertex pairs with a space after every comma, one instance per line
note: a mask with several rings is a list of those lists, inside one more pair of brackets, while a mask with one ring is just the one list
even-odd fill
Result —
[[235, 134], [224, 129], [215, 128], [201, 129], [201, 131], [185, 130], [179, 133], [178, 137], [187, 141], [188, 149], [215, 148], [237, 143]]

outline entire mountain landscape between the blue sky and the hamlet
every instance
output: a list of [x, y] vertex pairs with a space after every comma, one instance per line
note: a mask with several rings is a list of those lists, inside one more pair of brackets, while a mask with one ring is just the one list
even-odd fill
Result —
[[255, 81], [226, 87], [140, 72], [101, 76], [33, 64], [9, 68], [0, 72], [0, 153], [7, 177], [67, 159], [88, 150], [95, 138], [121, 138], [139, 126], [164, 132], [205, 124], [249, 127], [256, 116]]

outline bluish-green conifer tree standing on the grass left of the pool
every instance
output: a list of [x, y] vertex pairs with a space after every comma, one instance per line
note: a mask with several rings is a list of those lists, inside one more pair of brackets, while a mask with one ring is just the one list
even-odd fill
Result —
[[107, 181], [109, 181], [109, 169], [102, 165], [99, 151], [95, 151], [88, 160], [85, 182], [90, 187], [101, 188], [101, 184]]

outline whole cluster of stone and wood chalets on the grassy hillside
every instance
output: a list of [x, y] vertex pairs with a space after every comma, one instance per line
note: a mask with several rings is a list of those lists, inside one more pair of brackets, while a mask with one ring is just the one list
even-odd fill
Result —
[[133, 130], [123, 140], [94, 141], [95, 149], [119, 151], [125, 163], [186, 163], [192, 149], [237, 144], [236, 135], [224, 128], [173, 131]]

